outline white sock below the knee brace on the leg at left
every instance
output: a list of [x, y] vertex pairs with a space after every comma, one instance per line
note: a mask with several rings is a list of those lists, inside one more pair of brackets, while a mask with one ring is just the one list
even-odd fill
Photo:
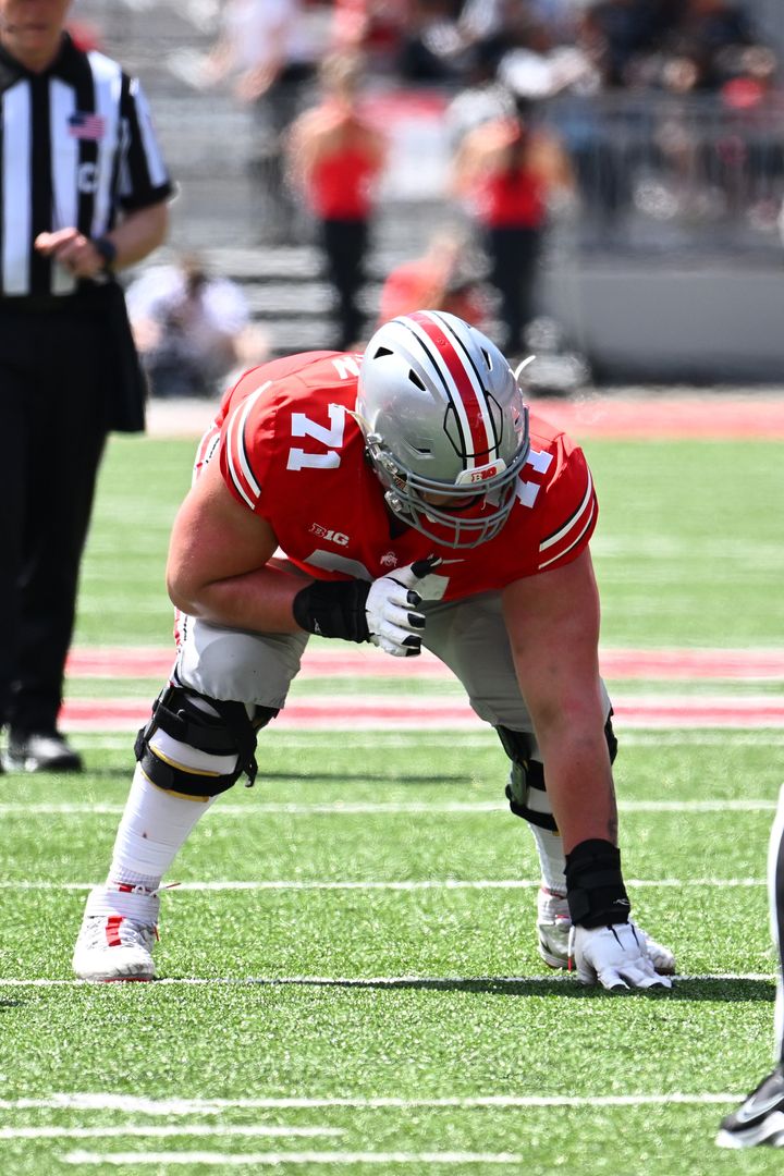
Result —
[[109, 882], [156, 890], [213, 800], [175, 796], [150, 784], [139, 764], [114, 842]]

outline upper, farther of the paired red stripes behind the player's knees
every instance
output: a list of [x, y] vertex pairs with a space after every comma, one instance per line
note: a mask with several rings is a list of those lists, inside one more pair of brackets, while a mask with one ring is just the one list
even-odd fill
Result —
[[[604, 649], [608, 679], [784, 680], [784, 649]], [[73, 649], [68, 676], [166, 679], [173, 652], [167, 648], [102, 647]], [[424, 653], [416, 661], [389, 657], [377, 649], [310, 647], [302, 659], [306, 677], [449, 677], [449, 670]]]

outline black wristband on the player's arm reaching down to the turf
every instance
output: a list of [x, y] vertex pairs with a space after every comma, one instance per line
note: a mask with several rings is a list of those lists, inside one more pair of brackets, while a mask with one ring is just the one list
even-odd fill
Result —
[[631, 904], [621, 873], [621, 850], [610, 841], [581, 841], [567, 854], [567, 901], [578, 927], [629, 922]]

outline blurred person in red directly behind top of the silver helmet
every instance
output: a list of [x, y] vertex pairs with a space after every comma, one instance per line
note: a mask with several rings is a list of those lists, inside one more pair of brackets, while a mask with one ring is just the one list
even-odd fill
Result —
[[489, 313], [480, 265], [457, 228], [436, 233], [421, 258], [393, 269], [381, 290], [378, 326], [413, 310], [448, 310], [485, 329]]

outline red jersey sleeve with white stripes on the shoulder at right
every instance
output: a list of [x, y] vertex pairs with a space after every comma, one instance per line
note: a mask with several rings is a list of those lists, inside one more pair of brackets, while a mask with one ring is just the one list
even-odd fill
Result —
[[565, 449], [548, 486], [540, 527], [538, 572], [571, 563], [590, 541], [598, 516], [594, 479], [577, 446]]

